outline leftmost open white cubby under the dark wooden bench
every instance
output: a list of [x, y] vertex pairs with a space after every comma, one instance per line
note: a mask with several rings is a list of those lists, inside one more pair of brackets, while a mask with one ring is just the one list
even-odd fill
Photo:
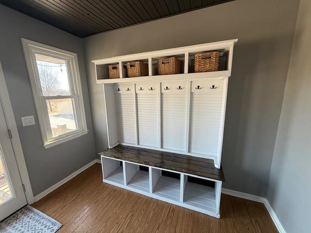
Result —
[[124, 184], [122, 161], [102, 157], [102, 168], [104, 181]]

